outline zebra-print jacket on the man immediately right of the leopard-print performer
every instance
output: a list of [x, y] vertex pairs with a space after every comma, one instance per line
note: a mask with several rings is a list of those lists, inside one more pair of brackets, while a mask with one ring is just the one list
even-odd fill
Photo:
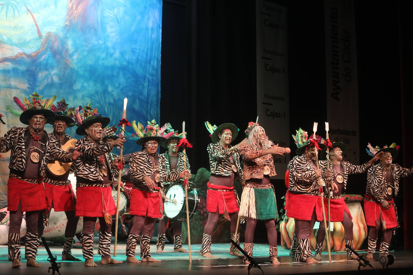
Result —
[[290, 192], [305, 195], [320, 194], [316, 167], [305, 155], [293, 157], [288, 162], [287, 169], [290, 170], [290, 186], [288, 187]]

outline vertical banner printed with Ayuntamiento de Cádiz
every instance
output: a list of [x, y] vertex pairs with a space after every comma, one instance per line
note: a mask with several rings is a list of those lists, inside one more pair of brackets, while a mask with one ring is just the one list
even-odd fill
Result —
[[324, 18], [330, 139], [345, 143], [347, 150], [343, 159], [358, 164], [360, 144], [353, 0], [324, 0]]

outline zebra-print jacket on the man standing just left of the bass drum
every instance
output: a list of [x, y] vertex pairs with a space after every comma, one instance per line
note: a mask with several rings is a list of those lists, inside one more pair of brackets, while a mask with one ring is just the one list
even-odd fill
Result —
[[[165, 169], [165, 157], [155, 153], [154, 157], [158, 160], [159, 164], [159, 175], [161, 176], [158, 182], [158, 186], [164, 189], [164, 182], [173, 182], [178, 180], [179, 174], [175, 172], [167, 173]], [[153, 174], [152, 160], [146, 150], [140, 152], [134, 152], [129, 158], [129, 175], [131, 176], [131, 181], [133, 183], [133, 188], [139, 189], [146, 192], [157, 193], [159, 192], [156, 188], [150, 188], [146, 185], [143, 180], [145, 176], [152, 179]]]

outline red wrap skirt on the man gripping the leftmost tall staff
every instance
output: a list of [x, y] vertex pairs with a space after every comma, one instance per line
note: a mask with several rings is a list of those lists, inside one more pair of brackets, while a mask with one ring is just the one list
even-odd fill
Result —
[[76, 197], [76, 216], [103, 217], [103, 210], [109, 215], [116, 214], [116, 204], [110, 186], [76, 187]]

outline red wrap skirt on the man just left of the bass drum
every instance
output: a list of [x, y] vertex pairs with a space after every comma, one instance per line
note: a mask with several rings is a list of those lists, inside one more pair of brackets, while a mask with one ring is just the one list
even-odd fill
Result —
[[[159, 187], [155, 188], [159, 189]], [[129, 213], [135, 216], [148, 216], [156, 219], [162, 218], [164, 210], [161, 193], [132, 189]]]

